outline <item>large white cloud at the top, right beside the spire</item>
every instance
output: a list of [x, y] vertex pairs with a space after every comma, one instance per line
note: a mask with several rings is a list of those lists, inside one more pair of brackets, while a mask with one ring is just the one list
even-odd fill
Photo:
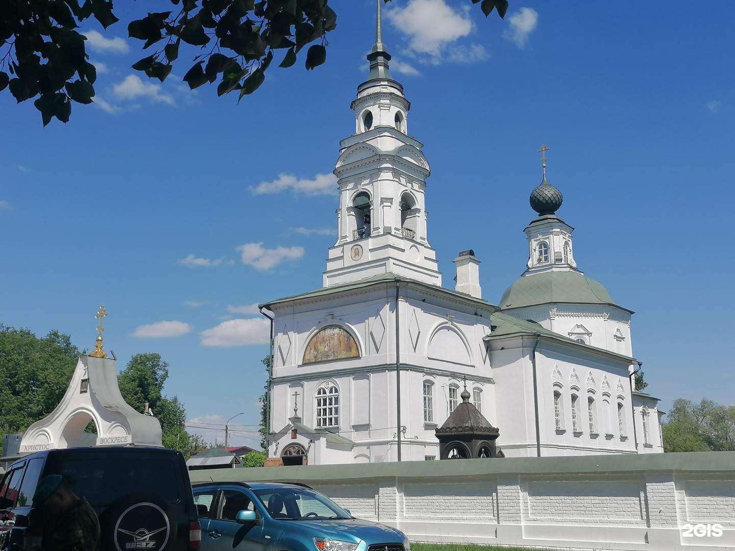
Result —
[[388, 20], [409, 38], [409, 53], [441, 56], [443, 49], [470, 34], [469, 7], [455, 12], [445, 0], [410, 0], [386, 12]]

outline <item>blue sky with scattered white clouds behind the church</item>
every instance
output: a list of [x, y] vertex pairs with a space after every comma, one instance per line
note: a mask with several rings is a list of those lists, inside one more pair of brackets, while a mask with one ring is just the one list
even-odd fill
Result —
[[[0, 322], [91, 348], [104, 303], [118, 367], [161, 353], [188, 417], [217, 428], [243, 411], [233, 442], [247, 443], [268, 353], [251, 305], [321, 286], [374, 3], [333, 1], [326, 65], [273, 67], [240, 104], [187, 91], [186, 55], [162, 85], [132, 71], [126, 21], [157, 8], [118, 5], [107, 31], [82, 26], [100, 33], [96, 105], [44, 129], [0, 93]], [[648, 390], [664, 408], [732, 403], [735, 4], [629, 5], [512, 0], [502, 21], [470, 0], [389, 4], [392, 73], [432, 168], [429, 241], [445, 286], [473, 248], [497, 303], [524, 269], [545, 143], [579, 267], [637, 312]]]

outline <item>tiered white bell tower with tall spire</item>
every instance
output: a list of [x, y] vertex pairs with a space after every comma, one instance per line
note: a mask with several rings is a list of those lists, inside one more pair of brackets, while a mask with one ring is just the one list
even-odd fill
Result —
[[351, 109], [355, 133], [340, 142], [334, 174], [340, 189], [337, 242], [329, 249], [325, 287], [395, 273], [441, 286], [426, 235], [425, 190], [431, 170], [423, 144], [408, 134], [411, 104], [390, 75], [381, 1], [368, 80]]

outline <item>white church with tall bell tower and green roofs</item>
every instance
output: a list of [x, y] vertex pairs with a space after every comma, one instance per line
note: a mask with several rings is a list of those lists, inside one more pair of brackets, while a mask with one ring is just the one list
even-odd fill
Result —
[[427, 231], [429, 162], [390, 75], [380, 1], [368, 60], [334, 169], [339, 233], [323, 287], [262, 305], [274, 318], [268, 455], [438, 459], [435, 431], [465, 388], [506, 457], [663, 452], [659, 400], [634, 391], [633, 312], [578, 269], [545, 164], [524, 230], [526, 271], [498, 305], [482, 297], [473, 251], [454, 260], [454, 290], [442, 287]]

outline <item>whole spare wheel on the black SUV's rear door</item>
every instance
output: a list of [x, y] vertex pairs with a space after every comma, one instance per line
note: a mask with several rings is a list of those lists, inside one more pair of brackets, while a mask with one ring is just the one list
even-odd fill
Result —
[[176, 540], [176, 514], [155, 494], [130, 494], [100, 515], [100, 547], [104, 551], [167, 551]]

